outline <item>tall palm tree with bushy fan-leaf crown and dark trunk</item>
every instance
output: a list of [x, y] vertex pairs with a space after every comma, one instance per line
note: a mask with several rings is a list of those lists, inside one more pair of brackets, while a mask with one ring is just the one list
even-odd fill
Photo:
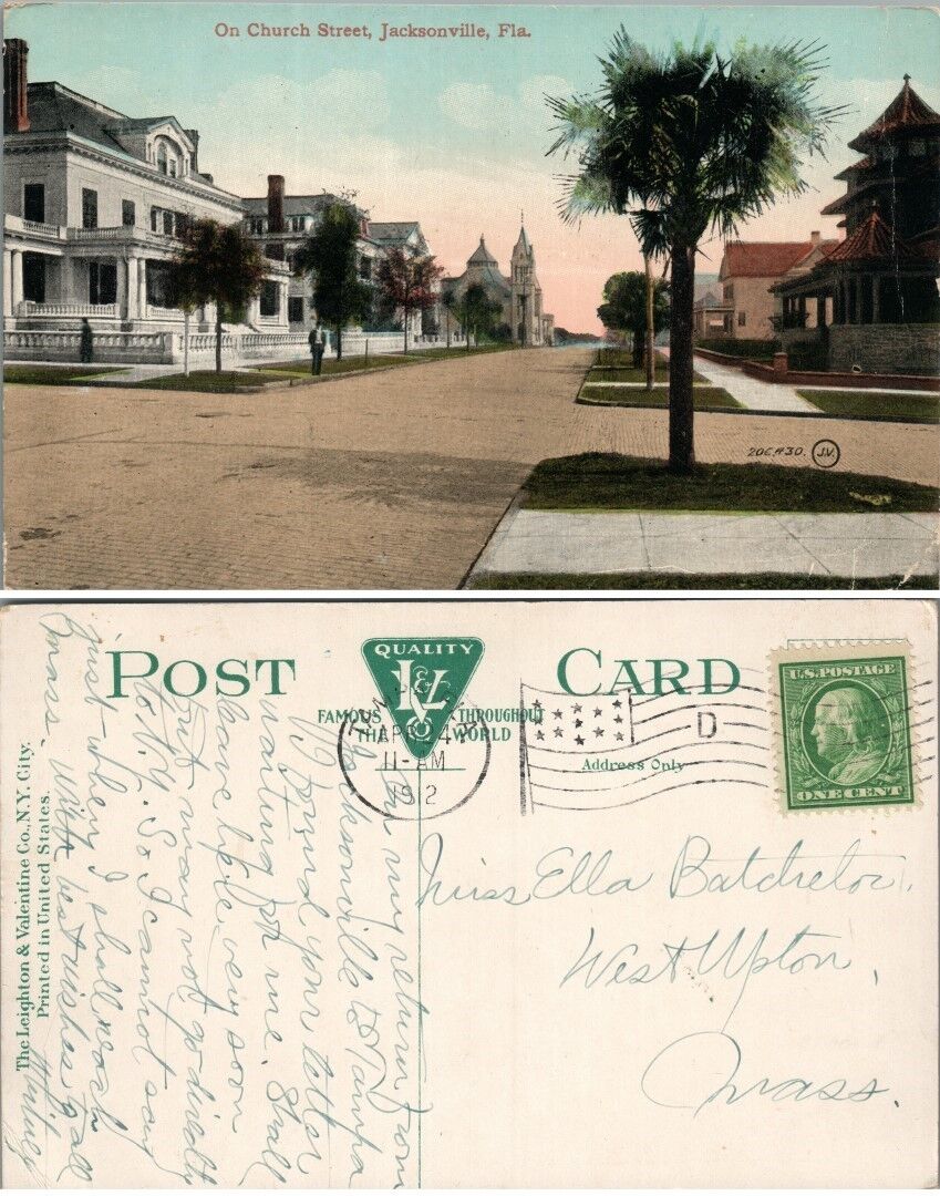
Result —
[[816, 94], [822, 47], [713, 43], [654, 54], [621, 28], [600, 60], [594, 96], [549, 98], [558, 136], [575, 155], [562, 218], [628, 215], [648, 258], [669, 258], [670, 469], [695, 463], [692, 305], [695, 257], [707, 233], [727, 238], [775, 199], [794, 196], [805, 154], [823, 153], [832, 118]]

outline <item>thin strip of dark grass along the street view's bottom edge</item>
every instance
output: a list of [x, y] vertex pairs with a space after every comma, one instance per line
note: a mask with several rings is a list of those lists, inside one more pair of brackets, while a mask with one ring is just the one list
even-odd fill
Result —
[[813, 573], [484, 573], [469, 590], [935, 590], [936, 578]]

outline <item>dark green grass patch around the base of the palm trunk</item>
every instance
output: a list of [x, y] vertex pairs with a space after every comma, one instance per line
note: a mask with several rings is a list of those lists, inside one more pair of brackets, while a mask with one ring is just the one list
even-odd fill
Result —
[[759, 464], [696, 465], [683, 477], [665, 462], [618, 453], [539, 462], [521, 492], [536, 511], [932, 512], [939, 500], [936, 487], [891, 477]]

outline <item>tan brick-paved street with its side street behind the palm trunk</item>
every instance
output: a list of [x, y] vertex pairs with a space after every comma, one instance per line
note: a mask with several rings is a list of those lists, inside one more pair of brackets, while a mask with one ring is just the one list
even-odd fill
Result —
[[[536, 462], [665, 456], [666, 414], [576, 407], [590, 352], [432, 361], [208, 395], [6, 390], [11, 588], [453, 588]], [[935, 428], [701, 414], [703, 462], [841, 448], [936, 481]]]

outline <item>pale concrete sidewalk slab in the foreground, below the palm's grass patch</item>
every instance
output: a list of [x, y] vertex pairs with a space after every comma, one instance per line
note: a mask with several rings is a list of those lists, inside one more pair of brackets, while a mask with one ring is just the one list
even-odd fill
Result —
[[511, 508], [470, 580], [499, 573], [793, 573], [879, 578], [938, 570], [935, 514], [715, 514]]

